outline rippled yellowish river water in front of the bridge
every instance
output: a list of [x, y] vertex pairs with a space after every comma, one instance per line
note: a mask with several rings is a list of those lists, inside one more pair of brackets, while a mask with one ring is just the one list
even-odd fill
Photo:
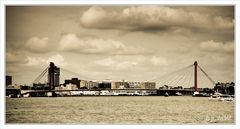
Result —
[[233, 124], [234, 107], [191, 96], [6, 98], [6, 123]]

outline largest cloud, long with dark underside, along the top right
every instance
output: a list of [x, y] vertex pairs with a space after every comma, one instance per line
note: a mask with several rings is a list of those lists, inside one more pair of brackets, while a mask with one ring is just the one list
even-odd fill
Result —
[[120, 12], [91, 7], [80, 17], [85, 28], [123, 30], [233, 29], [233, 19], [183, 8], [137, 6]]

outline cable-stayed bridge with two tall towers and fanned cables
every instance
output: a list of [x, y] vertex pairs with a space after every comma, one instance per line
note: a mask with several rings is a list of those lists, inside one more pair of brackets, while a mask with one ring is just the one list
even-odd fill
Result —
[[[61, 71], [61, 72], [60, 72]], [[60, 68], [55, 66], [53, 62], [50, 63], [37, 77], [34, 79], [33, 84], [45, 84], [47, 89], [34, 90], [31, 92], [56, 92], [55, 87], [59, 87], [60, 82], [63, 83], [65, 79], [79, 78], [81, 80], [94, 80], [90, 77], [81, 75], [79, 73], [70, 71], [66, 68]], [[192, 94], [194, 91], [200, 91], [202, 88], [213, 88], [215, 81], [203, 70], [198, 62], [195, 61], [193, 64], [183, 67], [179, 70], [175, 70], [164, 76], [154, 77], [149, 80], [149, 82], [154, 82], [155, 86], [158, 87], [157, 92], [169, 92], [176, 93], [181, 92], [185, 94]], [[140, 82], [135, 82], [140, 83]], [[104, 90], [101, 88], [97, 89], [74, 89], [74, 91], [83, 90]], [[122, 90], [108, 88], [108, 90]], [[124, 90], [153, 90], [151, 89], [135, 89], [128, 88]], [[58, 90], [59, 91], [59, 90]], [[63, 90], [66, 91], [66, 90]]]

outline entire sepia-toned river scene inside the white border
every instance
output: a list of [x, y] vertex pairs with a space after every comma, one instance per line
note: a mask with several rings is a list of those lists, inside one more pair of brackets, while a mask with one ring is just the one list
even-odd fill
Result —
[[235, 7], [6, 6], [5, 124], [235, 124]]

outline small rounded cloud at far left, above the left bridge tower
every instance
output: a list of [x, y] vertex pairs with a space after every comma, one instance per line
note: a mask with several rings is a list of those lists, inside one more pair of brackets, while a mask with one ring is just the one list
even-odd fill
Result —
[[43, 53], [49, 51], [49, 39], [47, 37], [31, 37], [25, 44], [27, 50], [36, 53]]

